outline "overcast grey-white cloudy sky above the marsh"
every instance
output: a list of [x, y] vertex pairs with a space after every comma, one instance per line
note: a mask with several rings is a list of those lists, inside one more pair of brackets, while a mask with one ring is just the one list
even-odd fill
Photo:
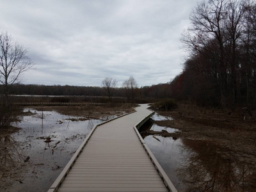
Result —
[[182, 71], [180, 33], [196, 2], [0, 0], [0, 31], [35, 63], [24, 84], [167, 83]]

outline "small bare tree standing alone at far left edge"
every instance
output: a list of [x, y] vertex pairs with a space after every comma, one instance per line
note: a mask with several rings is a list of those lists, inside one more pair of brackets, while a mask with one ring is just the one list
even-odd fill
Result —
[[8, 100], [10, 86], [19, 81], [20, 74], [29, 70], [33, 62], [27, 56], [27, 50], [13, 42], [8, 33], [0, 35], [0, 83], [4, 86], [4, 95]]

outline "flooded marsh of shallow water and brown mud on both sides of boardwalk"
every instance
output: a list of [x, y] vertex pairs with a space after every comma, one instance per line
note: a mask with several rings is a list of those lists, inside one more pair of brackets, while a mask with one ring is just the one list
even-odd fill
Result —
[[[132, 110], [99, 109], [24, 108], [17, 128], [1, 134], [0, 191], [47, 191], [94, 125]], [[140, 129], [177, 190], [255, 191], [253, 123], [246, 131], [210, 120], [205, 127], [188, 116], [159, 111]]]

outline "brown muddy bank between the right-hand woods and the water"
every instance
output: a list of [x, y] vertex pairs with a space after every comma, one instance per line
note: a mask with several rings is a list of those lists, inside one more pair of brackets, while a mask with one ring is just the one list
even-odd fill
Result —
[[255, 116], [250, 116], [239, 111], [212, 110], [188, 105], [157, 113], [173, 118], [156, 121], [157, 125], [180, 130], [173, 134], [163, 132], [162, 136], [211, 141], [226, 150], [235, 150], [237, 158], [246, 158], [256, 166], [256, 113]]

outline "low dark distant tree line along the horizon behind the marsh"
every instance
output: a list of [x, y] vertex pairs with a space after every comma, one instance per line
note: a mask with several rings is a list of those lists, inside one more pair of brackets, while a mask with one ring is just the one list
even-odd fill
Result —
[[[3, 86], [0, 86], [3, 91]], [[133, 97], [136, 98], [168, 98], [171, 97], [170, 83], [156, 84], [152, 86], [141, 86], [134, 88]], [[3, 92], [2, 92], [3, 93]], [[39, 84], [13, 84], [10, 88], [13, 95], [77, 95], [92, 97], [109, 97], [109, 93], [103, 86], [69, 86], [69, 85], [39, 85]], [[129, 99], [132, 99], [129, 93]], [[116, 88], [111, 97], [126, 97], [127, 87]]]

